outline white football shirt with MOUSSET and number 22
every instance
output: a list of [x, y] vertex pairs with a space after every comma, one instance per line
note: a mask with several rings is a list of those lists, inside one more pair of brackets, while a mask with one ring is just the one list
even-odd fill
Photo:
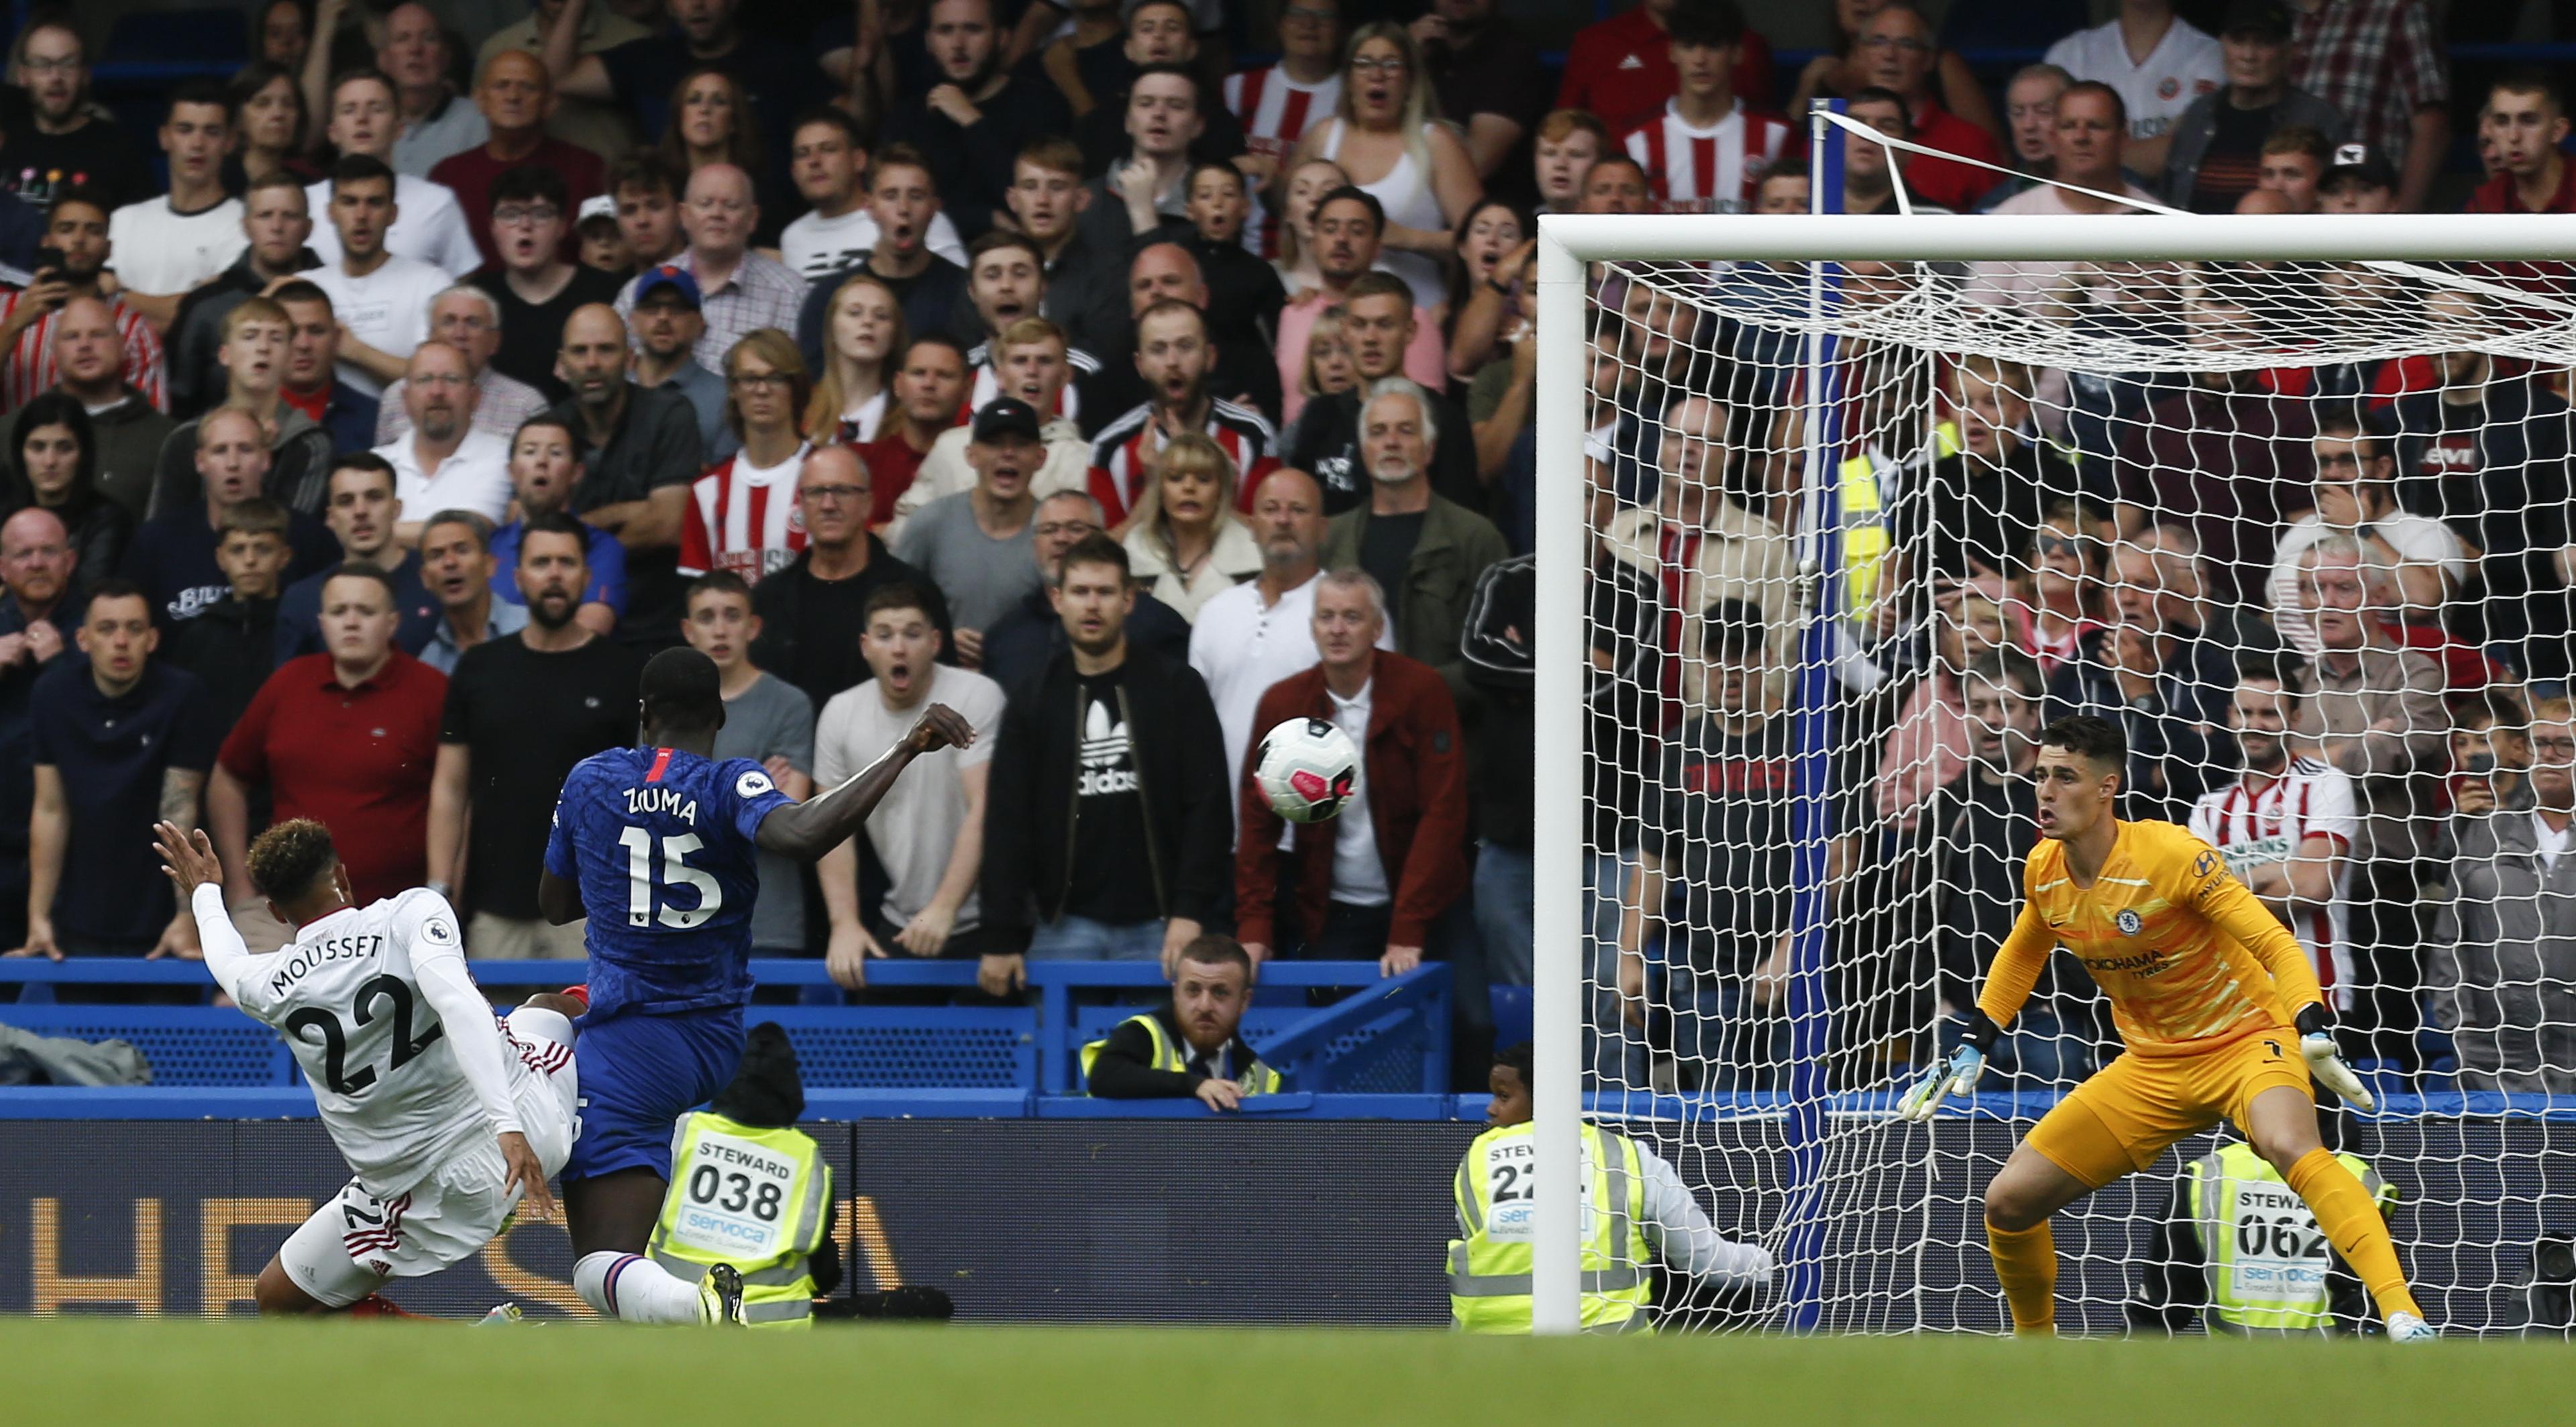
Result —
[[250, 956], [219, 886], [193, 899], [206, 971], [273, 1025], [314, 1087], [322, 1128], [376, 1198], [515, 1131], [526, 1061], [502, 1051], [466, 976], [456, 909], [428, 889], [345, 907]]

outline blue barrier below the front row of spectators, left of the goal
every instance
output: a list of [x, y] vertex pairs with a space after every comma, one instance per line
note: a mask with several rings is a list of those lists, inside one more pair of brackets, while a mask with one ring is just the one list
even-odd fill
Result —
[[[551, 989], [582, 979], [580, 961], [471, 961], [487, 989]], [[799, 987], [804, 1005], [750, 1007], [752, 1023], [778, 1023], [806, 1061], [817, 1090], [868, 1087], [1079, 1092], [1079, 1048], [1139, 1010], [1159, 1002], [1162, 966], [1036, 961], [1028, 984], [1036, 1005], [886, 1007], [840, 1005], [840, 989], [819, 961], [755, 958], [762, 987]], [[868, 984], [881, 989], [969, 989], [971, 961], [876, 961]], [[240, 1012], [206, 1005], [214, 981], [193, 961], [72, 958], [0, 961], [0, 984], [18, 984], [21, 999], [0, 1002], [0, 1023], [46, 1035], [88, 1041], [121, 1038], [157, 1066], [165, 1087], [289, 1087], [294, 1061], [268, 1028]], [[201, 1005], [64, 1005], [54, 987], [185, 987]], [[1347, 992], [1340, 1002], [1306, 1007], [1314, 992]], [[1244, 1038], [1262, 1051], [1285, 1046], [1278, 1064], [1291, 1090], [1440, 1092], [1448, 1087], [1450, 974], [1419, 966], [1381, 979], [1376, 961], [1275, 961], [1262, 969], [1260, 999], [1244, 1017]], [[1095, 1002], [1131, 1005], [1095, 1005]]]

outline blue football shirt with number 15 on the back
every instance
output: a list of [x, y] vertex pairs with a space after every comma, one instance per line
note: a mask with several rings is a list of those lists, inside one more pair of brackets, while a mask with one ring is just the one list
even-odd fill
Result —
[[760, 819], [796, 799], [747, 757], [595, 752], [564, 778], [546, 871], [582, 889], [590, 1015], [739, 1007], [752, 994]]

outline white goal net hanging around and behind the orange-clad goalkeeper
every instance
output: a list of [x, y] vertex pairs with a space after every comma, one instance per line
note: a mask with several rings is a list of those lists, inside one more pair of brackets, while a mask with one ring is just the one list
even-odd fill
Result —
[[[2429, 1316], [2522, 1329], [2576, 1231], [2563, 224], [1546, 219], [1543, 1154], [1579, 1066], [1780, 1252], [1767, 1321], [1999, 1332], [1981, 1190], [2117, 1054], [2092, 979], [1888, 1110], [2020, 909], [2035, 732], [2097, 714], [2123, 817], [2316, 958]], [[2177, 1200], [2231, 1139], [2056, 1218], [2061, 1332], [2334, 1278]]]

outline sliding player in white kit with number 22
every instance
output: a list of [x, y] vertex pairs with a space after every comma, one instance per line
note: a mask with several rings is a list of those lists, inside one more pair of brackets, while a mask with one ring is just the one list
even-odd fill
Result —
[[[577, 1082], [564, 997], [536, 997], [510, 1028], [466, 976], [456, 909], [435, 891], [353, 907], [319, 822], [281, 822], [250, 845], [250, 881], [296, 927], [252, 956], [224, 909], [224, 865], [204, 832], [160, 824], [160, 855], [196, 909], [206, 971], [294, 1048], [332, 1144], [355, 1169], [252, 1290], [263, 1314], [394, 1311], [376, 1288], [477, 1254], [572, 1154]], [[551, 1002], [551, 1005], [549, 1005]]]

